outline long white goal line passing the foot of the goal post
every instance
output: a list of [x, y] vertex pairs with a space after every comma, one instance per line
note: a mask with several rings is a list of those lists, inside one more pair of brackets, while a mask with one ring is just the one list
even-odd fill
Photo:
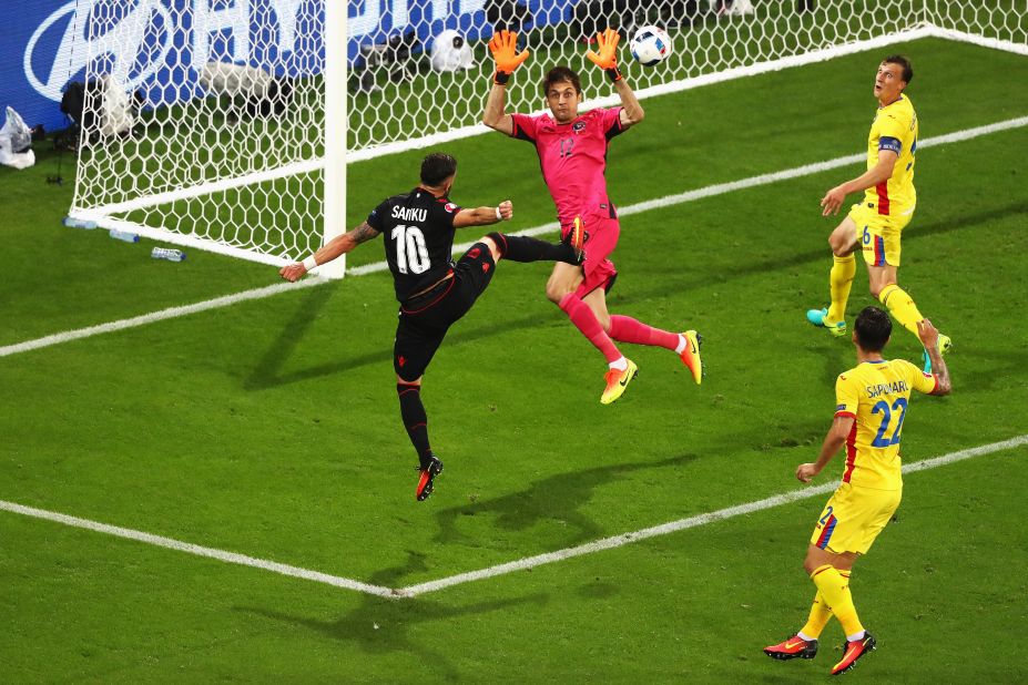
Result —
[[[983, 135], [989, 135], [993, 133], [998, 133], [1000, 131], [1008, 131], [1010, 129], [1019, 129], [1021, 126], [1028, 126], [1028, 116], [1019, 116], [1016, 119], [1008, 119], [1007, 121], [1001, 121], [995, 124], [988, 124], [985, 126], [976, 126], [974, 129], [965, 129], [963, 131], [956, 131], [954, 133], [948, 133], [946, 135], [938, 135], [935, 137], [928, 137], [918, 143], [918, 147], [930, 147], [933, 145], [942, 145], [945, 143], [957, 143], [963, 141], [969, 141]], [[817, 162], [815, 164], [805, 164], [803, 166], [796, 166], [794, 168], [787, 168], [780, 172], [774, 172], [771, 174], [761, 174], [759, 176], [750, 176], [749, 178], [743, 178], [741, 181], [733, 181], [731, 183], [719, 183], [716, 185], [709, 185], [706, 187], [698, 188], [695, 191], [686, 191], [684, 193], [678, 193], [675, 195], [666, 195], [664, 197], [659, 197], [657, 200], [648, 200], [645, 202], [640, 202], [633, 205], [627, 205], [618, 209], [619, 215], [629, 216], [631, 214], [638, 214], [640, 212], [649, 212], [650, 209], [658, 209], [663, 207], [670, 207], [673, 205], [683, 204], [686, 202], [695, 202], [696, 200], [703, 200], [706, 197], [713, 197], [715, 195], [724, 195], [726, 193], [733, 193], [735, 191], [742, 191], [745, 188], [752, 188], [760, 185], [769, 185], [772, 183], [777, 183], [780, 181], [788, 181], [791, 178], [798, 178], [801, 176], [810, 176], [812, 174], [820, 174], [821, 172], [829, 171], [833, 168], [838, 168], [841, 166], [848, 166], [851, 164], [856, 164], [866, 159], [866, 154], [855, 154], [847, 155], [844, 157], [836, 157], [834, 160], [828, 160], [826, 162]], [[556, 222], [549, 224], [542, 224], [540, 226], [533, 226], [531, 228], [526, 228], [523, 231], [515, 232], [513, 235], [542, 235], [546, 233], [554, 233], [559, 228], [559, 224]], [[454, 249], [458, 253], [461, 253], [474, 243], [464, 243], [461, 245], [455, 245]], [[389, 265], [386, 262], [375, 262], [373, 264], [365, 264], [364, 266], [356, 266], [346, 272], [349, 276], [364, 276], [366, 274], [374, 274], [377, 272], [384, 272], [388, 269]], [[271, 297], [272, 295], [277, 295], [278, 293], [284, 293], [293, 288], [303, 288], [314, 285], [320, 285], [326, 283], [324, 279], [319, 278], [307, 278], [301, 280], [296, 284], [279, 284], [267, 286], [263, 288], [256, 288], [253, 290], [245, 290], [243, 293], [237, 293], [235, 295], [226, 295], [225, 297], [218, 297], [215, 299], [208, 299], [202, 303], [196, 303], [195, 305], [186, 305], [183, 307], [170, 307], [167, 309], [162, 309], [161, 311], [154, 311], [152, 314], [146, 314], [143, 316], [138, 316], [131, 319], [122, 319], [119, 321], [112, 321], [110, 324], [101, 324], [99, 326], [91, 326], [89, 328], [79, 328], [77, 330], [69, 330], [65, 333], [59, 333], [51, 336], [45, 336], [43, 338], [37, 338], [34, 340], [28, 340], [26, 343], [18, 343], [16, 345], [8, 345], [6, 347], [0, 347], [0, 357], [7, 357], [9, 355], [17, 355], [18, 352], [24, 352], [33, 349], [39, 349], [41, 347], [49, 347], [51, 345], [58, 345], [60, 343], [67, 343], [69, 340], [78, 340], [81, 338], [88, 338], [90, 336], [100, 335], [103, 333], [111, 333], [114, 330], [124, 330], [126, 328], [135, 328], [136, 326], [144, 326], [146, 324], [152, 324], [154, 321], [161, 321], [164, 319], [175, 318], [180, 316], [186, 316], [190, 314], [195, 314], [197, 311], [206, 311], [207, 309], [215, 309], [218, 307], [227, 307], [236, 303], [245, 301], [248, 299], [261, 299], [264, 297]]]

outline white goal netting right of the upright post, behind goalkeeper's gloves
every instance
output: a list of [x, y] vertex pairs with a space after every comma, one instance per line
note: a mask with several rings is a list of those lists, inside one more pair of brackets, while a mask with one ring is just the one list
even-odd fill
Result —
[[[895, 33], [922, 22], [924, 9], [914, 0], [508, 0], [485, 2], [470, 19], [459, 37], [466, 60], [442, 71], [434, 65], [442, 62], [434, 55], [455, 49], [437, 44], [430, 30], [397, 27], [395, 17], [385, 16], [374, 25], [355, 22], [352, 11], [350, 42], [359, 48], [350, 50], [358, 57], [348, 84], [349, 150], [401, 141], [411, 132], [475, 125], [492, 72], [487, 41], [493, 27], [519, 31], [519, 45], [531, 52], [509, 89], [510, 110], [537, 111], [543, 106], [537, 84], [557, 64], [579, 72], [587, 99], [610, 92], [602, 72], [584, 57], [597, 30], [608, 25], [622, 33], [622, 72], [641, 90]], [[672, 54], [654, 67], [635, 63], [627, 47], [635, 30], [648, 24], [664, 28], [673, 44]], [[398, 43], [393, 50], [385, 49], [390, 37]]]

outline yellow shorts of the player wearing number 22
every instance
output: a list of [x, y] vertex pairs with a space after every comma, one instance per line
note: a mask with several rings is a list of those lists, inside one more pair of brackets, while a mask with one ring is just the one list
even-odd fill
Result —
[[842, 483], [821, 512], [811, 544], [834, 554], [866, 554], [892, 520], [902, 497], [903, 490]]

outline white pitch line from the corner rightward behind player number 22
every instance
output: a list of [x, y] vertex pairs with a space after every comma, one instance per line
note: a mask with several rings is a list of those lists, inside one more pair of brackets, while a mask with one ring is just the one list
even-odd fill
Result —
[[[942, 467], [945, 464], [954, 463], [955, 461], [963, 461], [964, 459], [970, 459], [973, 457], [979, 457], [981, 454], [989, 454], [991, 452], [998, 452], [1001, 450], [1020, 447], [1022, 444], [1028, 444], [1028, 434], [1018, 436], [1017, 438], [1011, 438], [1009, 440], [1004, 440], [1001, 442], [993, 442], [990, 444], [973, 447], [970, 449], [960, 450], [958, 452], [950, 452], [948, 454], [943, 454], [942, 457], [936, 457], [934, 459], [916, 461], [916, 462], [913, 462], [913, 463], [909, 463], [903, 467], [903, 472], [912, 473], [914, 471], [924, 471], [926, 469], [934, 469], [936, 467]], [[452, 587], [454, 585], [460, 585], [462, 583], [470, 583], [471, 581], [479, 581], [479, 580], [484, 580], [488, 577], [496, 577], [497, 575], [513, 573], [515, 571], [525, 571], [526, 569], [535, 569], [536, 566], [541, 566], [543, 564], [563, 561], [566, 559], [572, 559], [574, 556], [581, 556], [583, 554], [592, 554], [593, 552], [600, 552], [603, 550], [612, 550], [614, 548], [624, 546], [632, 542], [639, 542], [640, 540], [645, 540], [648, 538], [655, 538], [658, 535], [666, 535], [669, 533], [683, 531], [690, 528], [698, 528], [700, 525], [706, 525], [708, 523], [715, 523], [717, 521], [724, 521], [725, 519], [731, 519], [734, 517], [749, 514], [749, 513], [753, 513], [756, 511], [763, 511], [765, 509], [772, 509], [773, 507], [778, 507], [781, 504], [787, 504], [788, 502], [795, 502], [796, 500], [805, 500], [807, 498], [816, 497], [818, 494], [826, 494], [828, 492], [834, 491], [836, 488], [838, 488], [838, 483], [831, 482], [831, 483], [824, 483], [822, 485], [815, 485], [813, 488], [804, 488], [802, 490], [784, 492], [782, 494], [770, 497], [765, 500], [750, 502], [747, 504], [739, 504], [736, 507], [729, 507], [727, 509], [720, 509], [717, 511], [712, 511], [712, 512], [699, 514], [695, 517], [689, 517], [688, 519], [679, 519], [678, 521], [672, 521], [670, 523], [654, 525], [653, 528], [644, 528], [640, 531], [635, 531], [632, 533], [622, 533], [620, 535], [614, 535], [612, 538], [604, 538], [602, 540], [597, 540], [596, 542], [590, 542], [590, 543], [582, 544], [579, 546], [559, 550], [557, 552], [549, 552], [547, 554], [538, 554], [536, 556], [528, 556], [526, 559], [512, 561], [506, 564], [499, 564], [496, 566], [490, 566], [488, 569], [481, 569], [479, 571], [459, 573], [457, 575], [444, 577], [438, 581], [429, 581], [427, 583], [421, 583], [419, 585], [410, 585], [409, 587], [403, 587], [403, 589], [397, 590], [396, 594], [404, 596], [404, 597], [413, 597], [415, 595], [425, 594], [427, 592], [436, 592], [437, 590], [442, 590], [444, 587]]]

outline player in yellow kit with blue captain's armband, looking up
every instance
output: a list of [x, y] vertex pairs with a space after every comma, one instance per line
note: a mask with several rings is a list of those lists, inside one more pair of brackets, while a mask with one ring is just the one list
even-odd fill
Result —
[[[899, 268], [899, 237], [910, 223], [917, 205], [914, 191], [914, 160], [917, 152], [917, 114], [904, 92], [914, 78], [910, 61], [894, 54], [885, 58], [875, 75], [878, 111], [867, 136], [867, 171], [837, 185], [821, 201], [822, 215], [838, 214], [846, 195], [864, 191], [862, 202], [832, 232], [828, 244], [835, 255], [828, 275], [832, 304], [811, 309], [807, 320], [827, 328], [832, 335], [846, 335], [846, 301], [856, 274], [857, 248], [864, 253], [871, 294], [885, 305], [904, 328], [917, 335], [924, 316], [896, 280]], [[939, 336], [939, 349], [951, 346], [948, 336]], [[926, 370], [928, 370], [926, 355]]]

